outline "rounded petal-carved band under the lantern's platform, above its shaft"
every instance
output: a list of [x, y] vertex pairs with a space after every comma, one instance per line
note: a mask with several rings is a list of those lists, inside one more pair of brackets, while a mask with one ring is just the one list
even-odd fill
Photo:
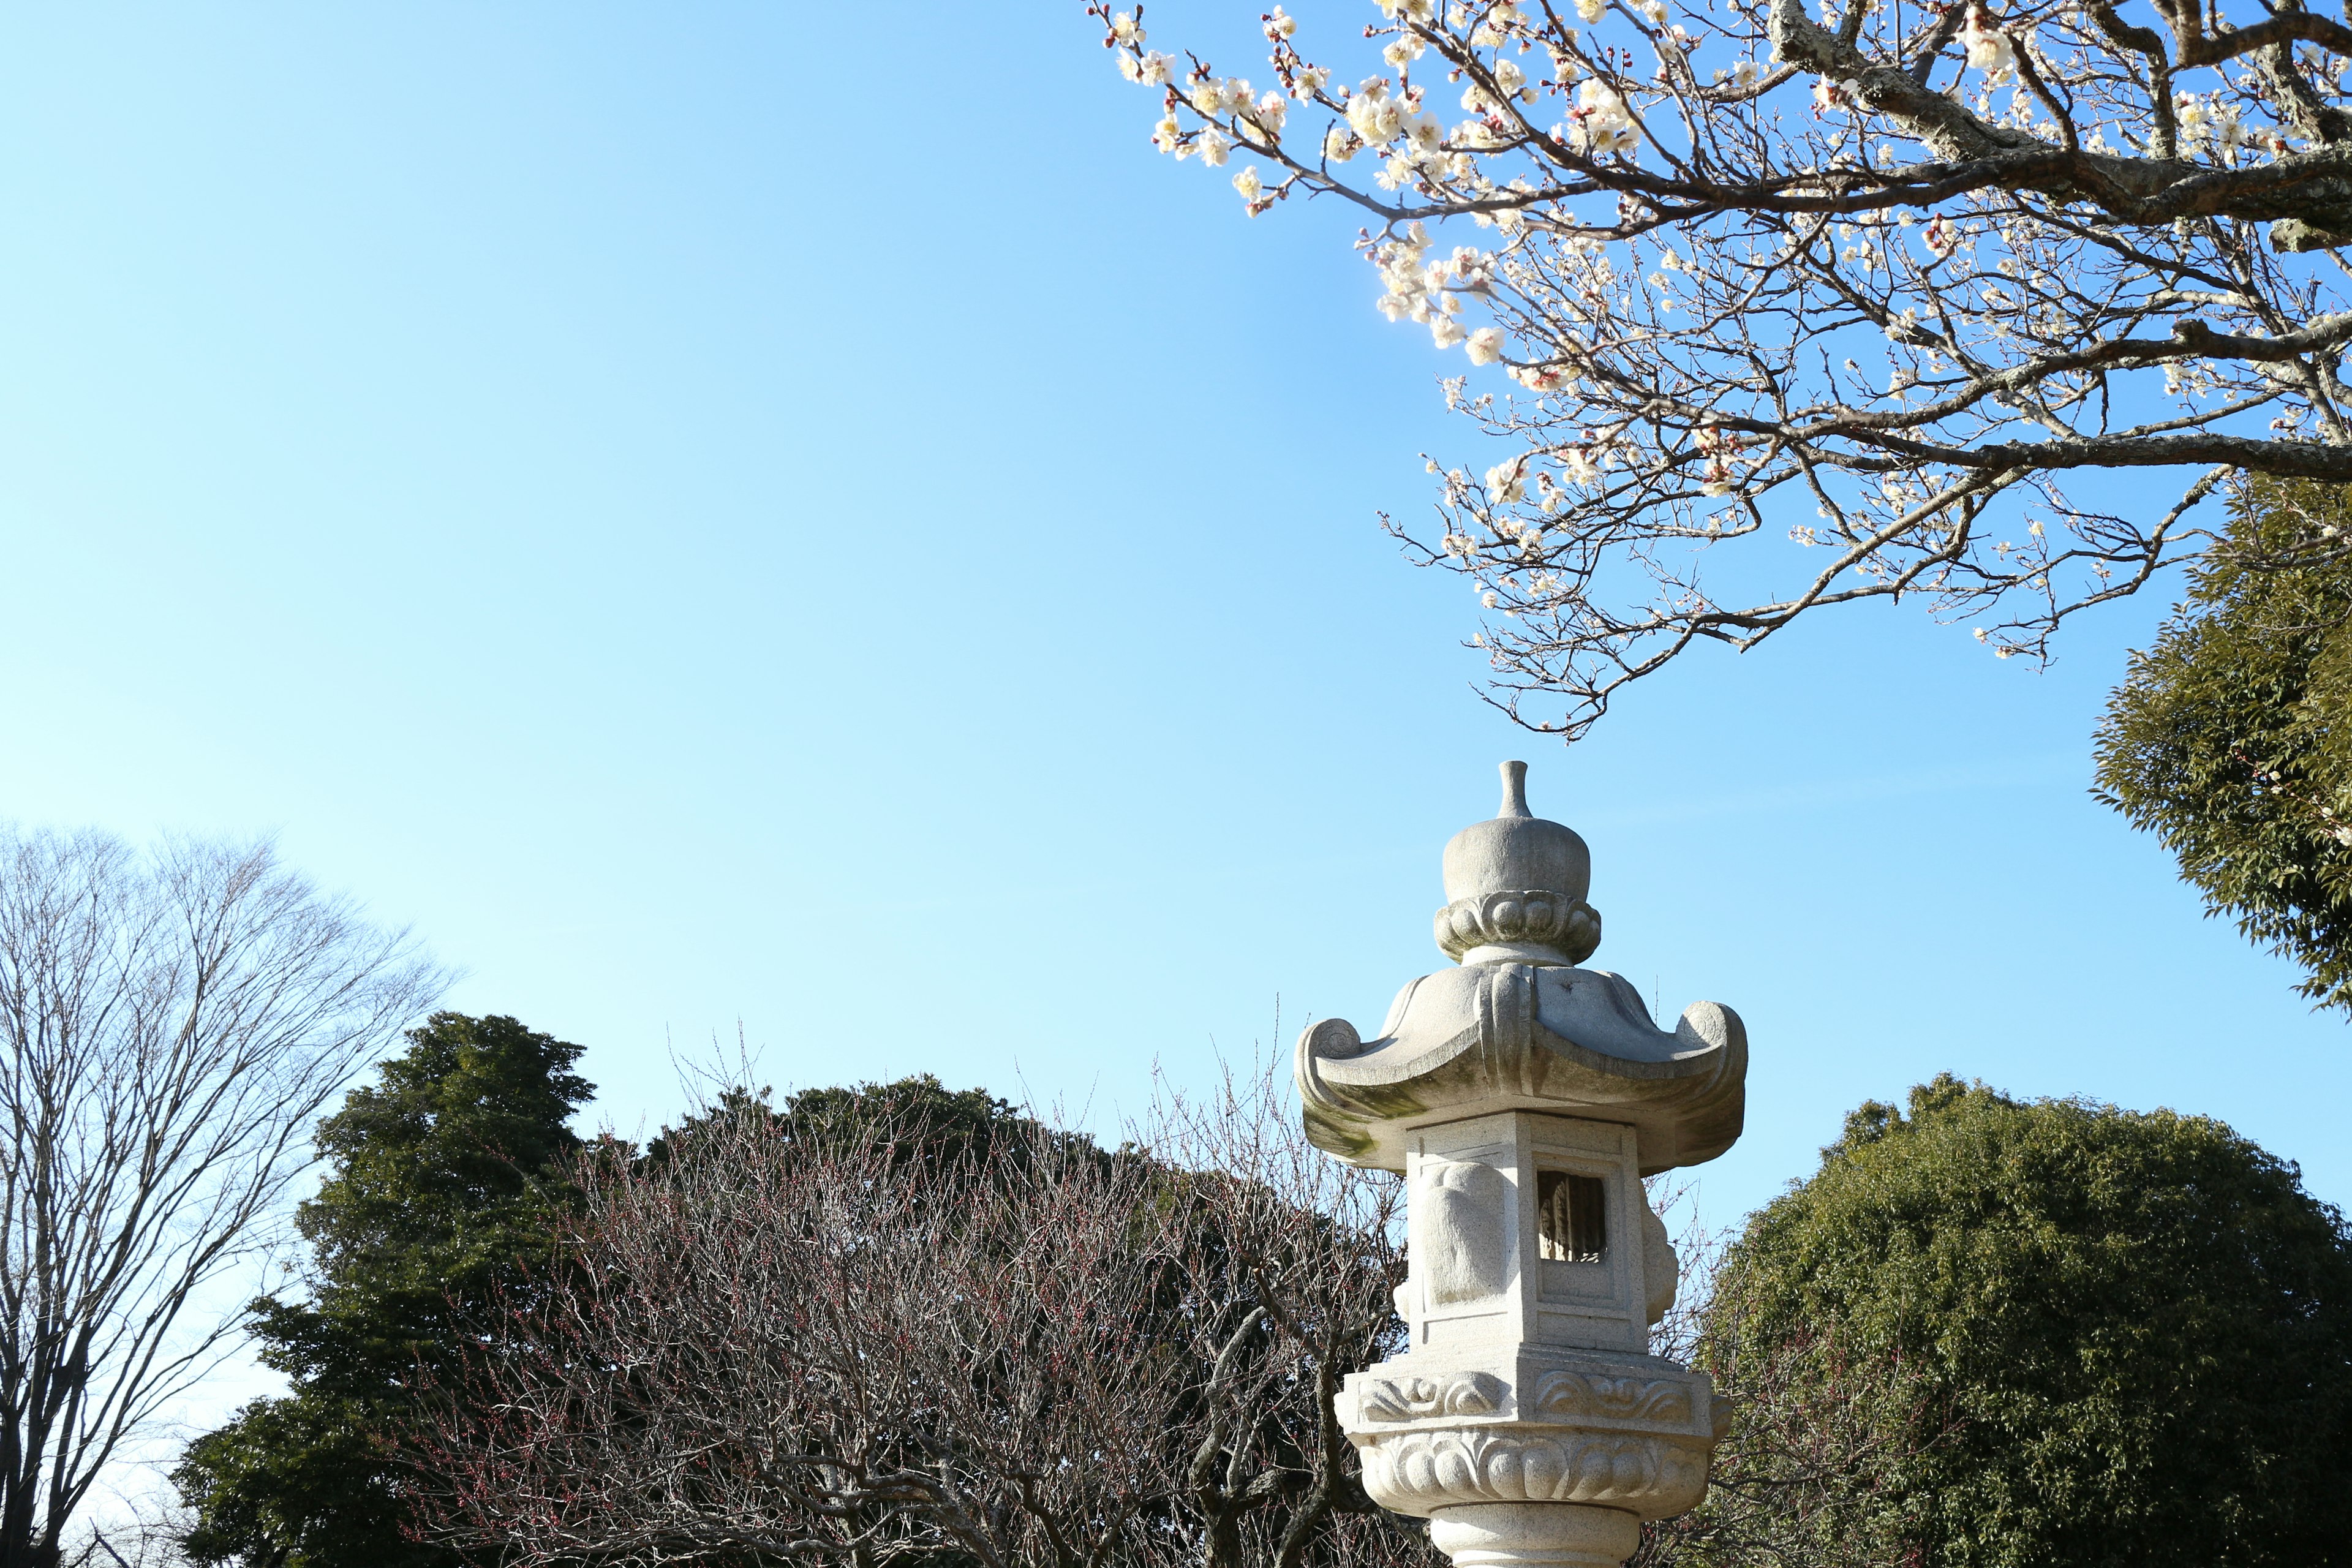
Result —
[[1708, 1490], [1705, 1439], [1468, 1427], [1383, 1434], [1362, 1450], [1364, 1490], [1399, 1514], [1468, 1502], [1588, 1502], [1668, 1519], [1698, 1507]]

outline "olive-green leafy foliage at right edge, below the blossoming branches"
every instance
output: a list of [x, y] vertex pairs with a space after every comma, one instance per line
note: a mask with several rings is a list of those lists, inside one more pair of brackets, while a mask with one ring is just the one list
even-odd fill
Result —
[[2098, 731], [2096, 795], [2152, 830], [2213, 914], [2352, 1011], [2352, 567], [2277, 559], [2352, 529], [2352, 491], [2253, 480], [2230, 538]]

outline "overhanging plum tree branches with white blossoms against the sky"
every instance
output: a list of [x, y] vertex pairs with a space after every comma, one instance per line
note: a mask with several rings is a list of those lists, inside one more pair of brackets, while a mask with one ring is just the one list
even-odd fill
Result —
[[1355, 202], [1381, 308], [1463, 348], [1510, 456], [1390, 527], [1524, 724], [1858, 599], [2042, 656], [2232, 475], [2352, 482], [2352, 28], [2303, 0], [1376, 2], [1362, 75], [1265, 14], [1268, 89], [1089, 9], [1162, 153]]

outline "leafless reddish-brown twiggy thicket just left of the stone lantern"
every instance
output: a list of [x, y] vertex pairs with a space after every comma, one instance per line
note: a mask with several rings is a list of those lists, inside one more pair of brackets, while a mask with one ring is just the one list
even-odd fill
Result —
[[517, 1566], [1423, 1561], [1329, 1403], [1395, 1333], [1395, 1185], [1230, 1103], [1152, 1152], [941, 1164], [741, 1098], [597, 1152], [569, 1262], [445, 1389], [440, 1530]]

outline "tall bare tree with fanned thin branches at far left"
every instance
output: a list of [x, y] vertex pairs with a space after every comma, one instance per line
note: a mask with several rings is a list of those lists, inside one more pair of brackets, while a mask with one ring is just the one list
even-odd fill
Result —
[[0, 830], [0, 1566], [226, 1349], [313, 1114], [435, 987], [266, 846]]

